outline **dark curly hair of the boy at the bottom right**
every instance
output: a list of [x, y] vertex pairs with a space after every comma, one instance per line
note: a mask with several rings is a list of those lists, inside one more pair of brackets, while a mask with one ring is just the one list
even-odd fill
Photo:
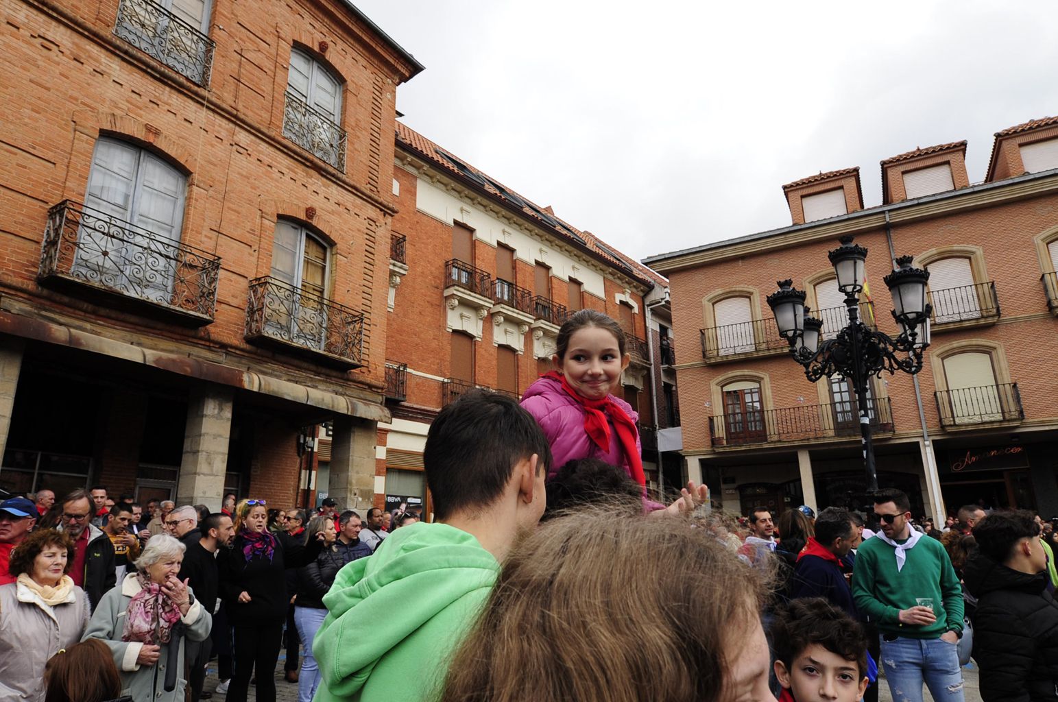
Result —
[[794, 668], [795, 659], [804, 649], [819, 644], [832, 653], [855, 662], [860, 680], [867, 675], [867, 634], [863, 627], [843, 609], [822, 597], [791, 599], [780, 608], [771, 624], [771, 642], [776, 658], [786, 665], [787, 670]]

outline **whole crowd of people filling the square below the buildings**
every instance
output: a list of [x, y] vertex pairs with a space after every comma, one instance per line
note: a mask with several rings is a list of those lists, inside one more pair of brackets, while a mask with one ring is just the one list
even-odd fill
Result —
[[[475, 390], [423, 452], [431, 514], [363, 517], [103, 486], [0, 503], [0, 699], [854, 702], [1058, 699], [1055, 530], [882, 489], [745, 518], [647, 494], [613, 394], [620, 327], [581, 311], [521, 403]], [[777, 519], [778, 517], [778, 519]], [[873, 528], [872, 528], [873, 526]], [[1050, 529], [1048, 529], [1050, 528]], [[216, 659], [220, 685], [203, 689]]]

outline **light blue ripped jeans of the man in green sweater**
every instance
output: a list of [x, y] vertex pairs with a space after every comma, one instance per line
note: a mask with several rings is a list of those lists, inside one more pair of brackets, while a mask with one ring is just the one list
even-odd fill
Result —
[[935, 702], [964, 702], [955, 644], [941, 639], [881, 640], [881, 661], [893, 702], [923, 702], [923, 683]]

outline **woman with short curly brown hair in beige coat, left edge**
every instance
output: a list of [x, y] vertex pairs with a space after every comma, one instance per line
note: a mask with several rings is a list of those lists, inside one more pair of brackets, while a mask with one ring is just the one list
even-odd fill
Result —
[[48, 659], [80, 641], [92, 610], [72, 566], [73, 539], [62, 532], [31, 532], [12, 552], [16, 580], [0, 587], [0, 700], [43, 700]]

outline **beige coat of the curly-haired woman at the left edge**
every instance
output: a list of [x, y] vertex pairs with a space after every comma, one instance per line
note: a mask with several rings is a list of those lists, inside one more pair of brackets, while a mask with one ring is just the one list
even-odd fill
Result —
[[91, 613], [78, 587], [54, 607], [19, 583], [0, 587], [0, 700], [43, 700], [44, 664], [80, 641]]

